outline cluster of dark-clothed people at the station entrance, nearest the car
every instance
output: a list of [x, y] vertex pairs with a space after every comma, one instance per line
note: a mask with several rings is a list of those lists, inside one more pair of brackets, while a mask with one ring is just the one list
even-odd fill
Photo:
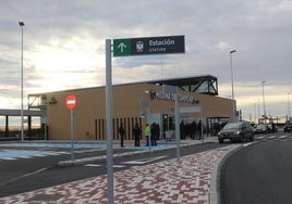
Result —
[[180, 132], [181, 132], [181, 139], [185, 140], [187, 138], [192, 140], [199, 140], [202, 139], [202, 124], [200, 120], [196, 124], [195, 122], [192, 122], [191, 124], [184, 124], [182, 120], [180, 124]]

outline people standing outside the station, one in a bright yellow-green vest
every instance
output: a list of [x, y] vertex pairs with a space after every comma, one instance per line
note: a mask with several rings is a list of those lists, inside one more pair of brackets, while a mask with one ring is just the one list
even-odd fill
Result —
[[[119, 135], [121, 139], [121, 148], [123, 148], [124, 136], [125, 136], [123, 124], [121, 124], [119, 127]], [[134, 140], [135, 140], [135, 146], [141, 146], [139, 140], [142, 137], [142, 129], [138, 124], [135, 124], [135, 126], [133, 127], [133, 135], [134, 135]], [[146, 139], [146, 145], [149, 145], [149, 143], [151, 145], [157, 145], [157, 140], [159, 140], [159, 136], [160, 136], [159, 124], [153, 123], [150, 127], [148, 124], [146, 124], [146, 127], [144, 129], [144, 136]]]

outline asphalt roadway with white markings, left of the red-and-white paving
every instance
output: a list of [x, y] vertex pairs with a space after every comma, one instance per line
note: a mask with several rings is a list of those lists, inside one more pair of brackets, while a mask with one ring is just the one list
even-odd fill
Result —
[[[218, 143], [185, 146], [181, 148], [181, 156], [220, 146], [222, 146], [222, 144]], [[114, 150], [114, 153], [125, 151], [133, 150], [118, 149]], [[175, 149], [168, 149], [117, 157], [113, 160], [114, 171], [124, 170], [132, 166], [175, 158]], [[96, 155], [106, 155], [106, 151], [75, 153], [76, 158]], [[64, 160], [70, 160], [70, 155], [50, 155], [45, 157], [0, 161], [0, 197], [107, 174], [107, 164], [105, 161], [80, 166], [57, 165], [58, 162]], [[141, 163], [132, 163], [131, 161], [141, 161]]]

